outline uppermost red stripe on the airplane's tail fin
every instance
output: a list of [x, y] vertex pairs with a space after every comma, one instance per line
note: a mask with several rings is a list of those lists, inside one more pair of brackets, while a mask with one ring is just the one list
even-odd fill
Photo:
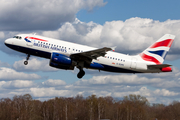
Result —
[[173, 40], [172, 39], [167, 39], [161, 42], [156, 42], [154, 43], [150, 48], [156, 48], [156, 47], [171, 47]]

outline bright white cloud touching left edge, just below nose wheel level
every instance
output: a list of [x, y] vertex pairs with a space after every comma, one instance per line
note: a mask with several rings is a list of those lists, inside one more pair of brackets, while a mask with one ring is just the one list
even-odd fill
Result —
[[37, 74], [26, 74], [23, 72], [17, 72], [11, 68], [0, 68], [0, 80], [17, 80], [17, 79], [25, 79], [25, 80], [34, 80], [40, 79], [41, 76]]

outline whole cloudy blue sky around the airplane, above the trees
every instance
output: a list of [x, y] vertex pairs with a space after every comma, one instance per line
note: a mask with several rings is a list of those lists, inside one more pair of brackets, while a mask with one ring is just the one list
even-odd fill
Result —
[[[0, 0], [0, 98], [31, 94], [34, 99], [144, 96], [150, 103], [180, 101], [180, 1], [172, 0]], [[38, 35], [92, 47], [117, 46], [136, 55], [164, 34], [176, 36], [164, 63], [171, 73], [124, 74], [49, 67], [49, 60], [7, 48], [16, 34]]]

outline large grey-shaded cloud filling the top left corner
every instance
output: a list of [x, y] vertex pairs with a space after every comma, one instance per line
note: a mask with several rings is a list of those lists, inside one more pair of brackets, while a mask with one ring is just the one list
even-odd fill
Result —
[[1, 0], [0, 29], [57, 29], [64, 22], [74, 21], [79, 10], [105, 4], [103, 0]]

